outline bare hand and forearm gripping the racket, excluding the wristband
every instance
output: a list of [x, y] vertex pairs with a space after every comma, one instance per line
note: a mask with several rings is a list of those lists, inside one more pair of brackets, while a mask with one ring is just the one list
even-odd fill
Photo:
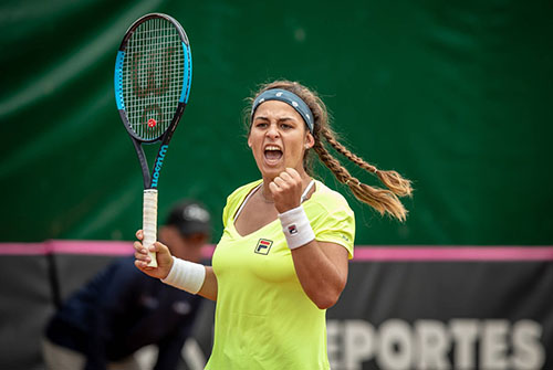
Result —
[[[139, 241], [142, 241], [143, 239], [142, 230], [138, 230], [138, 232], [136, 233], [136, 237]], [[164, 245], [159, 242], [155, 242], [154, 245], [150, 246], [150, 252], [156, 253], [157, 267], [148, 266], [148, 263], [152, 261], [152, 258], [149, 257], [146, 247], [140, 242], [135, 242], [134, 249], [135, 249], [135, 266], [139, 271], [142, 271], [148, 276], [159, 278], [161, 281], [167, 278], [169, 272], [174, 267], [174, 260], [173, 260], [174, 257], [170, 254], [167, 245]], [[206, 269], [204, 284], [196, 294], [199, 294], [200, 296], [211, 300], [217, 300], [217, 277], [213, 273], [213, 268], [210, 266], [204, 266], [204, 268]]]

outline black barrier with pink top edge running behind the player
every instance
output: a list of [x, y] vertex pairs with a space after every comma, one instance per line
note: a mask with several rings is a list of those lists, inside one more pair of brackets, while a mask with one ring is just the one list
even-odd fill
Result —
[[[40, 338], [55, 281], [65, 298], [129, 246], [104, 244], [0, 256], [0, 369], [42, 369]], [[416, 261], [394, 261], [405, 251]], [[357, 247], [347, 286], [327, 311], [332, 369], [553, 369], [553, 249], [524, 251]], [[182, 349], [187, 369], [209, 358], [213, 314], [206, 302]]]

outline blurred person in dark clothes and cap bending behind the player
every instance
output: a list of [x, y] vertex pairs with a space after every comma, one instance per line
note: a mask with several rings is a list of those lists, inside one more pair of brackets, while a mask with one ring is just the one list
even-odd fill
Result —
[[[200, 262], [210, 214], [197, 201], [174, 207], [158, 237], [173, 255]], [[142, 369], [134, 353], [158, 347], [155, 370], [177, 369], [202, 298], [144, 275], [134, 257], [118, 258], [73, 294], [45, 329], [49, 370]]]

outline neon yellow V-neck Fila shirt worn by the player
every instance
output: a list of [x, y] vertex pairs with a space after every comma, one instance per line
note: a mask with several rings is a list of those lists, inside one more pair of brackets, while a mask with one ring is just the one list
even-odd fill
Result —
[[[330, 369], [326, 310], [303, 292], [280, 220], [246, 236], [234, 229], [237, 210], [259, 183], [237, 189], [223, 210], [225, 231], [212, 258], [215, 342], [206, 369]], [[343, 245], [352, 258], [354, 213], [340, 193], [315, 184], [303, 203], [315, 239]]]

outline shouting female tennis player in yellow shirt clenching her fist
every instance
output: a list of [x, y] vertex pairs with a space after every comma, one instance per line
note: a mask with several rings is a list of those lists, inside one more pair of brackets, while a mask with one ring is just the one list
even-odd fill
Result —
[[[158, 242], [152, 247], [158, 267], [147, 267], [140, 242], [135, 242], [135, 264], [217, 302], [206, 369], [330, 369], [325, 313], [347, 281], [355, 220], [344, 197], [311, 177], [310, 155], [314, 151], [362, 202], [398, 220], [406, 216], [398, 197], [410, 194], [410, 182], [341, 145], [323, 102], [299, 83], [262, 86], [249, 118], [248, 145], [261, 179], [228, 197], [212, 267], [173, 257]], [[323, 140], [387, 189], [351, 176]]]

